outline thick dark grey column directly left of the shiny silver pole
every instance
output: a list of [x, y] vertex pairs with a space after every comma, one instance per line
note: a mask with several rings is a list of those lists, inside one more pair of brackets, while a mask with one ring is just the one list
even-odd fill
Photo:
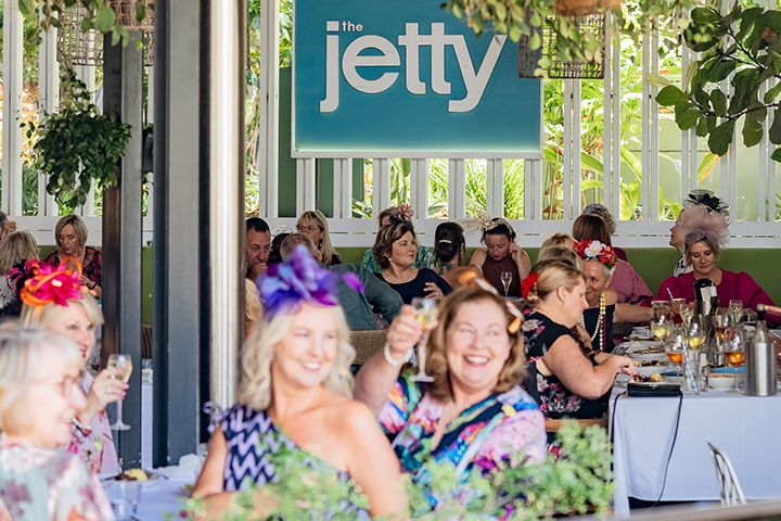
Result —
[[202, 374], [208, 374], [208, 356], [202, 353], [208, 354], [208, 318], [203, 314], [209, 306], [202, 281], [209, 267], [202, 262], [208, 240], [202, 171], [208, 156], [202, 153], [202, 132], [208, 127], [201, 122], [201, 29], [197, 0], [155, 2], [155, 467], [194, 453], [205, 423]]

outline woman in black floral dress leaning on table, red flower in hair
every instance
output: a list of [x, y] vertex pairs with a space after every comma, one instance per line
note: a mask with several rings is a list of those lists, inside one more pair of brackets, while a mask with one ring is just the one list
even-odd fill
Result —
[[588, 307], [586, 291], [582, 271], [559, 259], [537, 263], [524, 281], [524, 298], [532, 309], [523, 338], [533, 377], [524, 386], [546, 418], [602, 417], [600, 398], [610, 392], [616, 374], [637, 374], [630, 358], [586, 354], [572, 335]]

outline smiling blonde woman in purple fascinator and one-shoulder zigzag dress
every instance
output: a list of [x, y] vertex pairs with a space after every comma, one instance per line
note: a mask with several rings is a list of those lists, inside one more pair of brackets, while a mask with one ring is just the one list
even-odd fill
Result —
[[[312, 468], [341, 481], [351, 479], [370, 505], [368, 512], [346, 506], [356, 519], [407, 514], [404, 493], [394, 486], [398, 460], [369, 408], [353, 399], [355, 351], [336, 277], [298, 246], [258, 279], [264, 315], [242, 348], [239, 403], [215, 419], [193, 488], [205, 499], [207, 518], [221, 516], [233, 493], [252, 485], [263, 514], [260, 505], [269, 505], [263, 485], [282, 478], [272, 465], [280, 446], [305, 452]], [[355, 279], [345, 282], [360, 291]]]

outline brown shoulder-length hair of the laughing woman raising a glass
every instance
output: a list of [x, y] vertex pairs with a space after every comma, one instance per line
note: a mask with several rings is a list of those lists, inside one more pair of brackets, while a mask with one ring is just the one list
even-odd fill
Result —
[[[447, 363], [447, 331], [450, 328], [456, 315], [464, 304], [476, 302], [489, 302], [496, 304], [504, 316], [505, 325], [509, 326], [515, 319], [507, 309], [504, 300], [499, 295], [487, 292], [482, 288], [460, 288], [446, 296], [439, 305], [439, 326], [432, 331], [428, 340], [428, 353], [426, 356], [426, 372], [434, 378], [434, 381], [426, 387], [432, 397], [439, 402], [447, 402], [452, 398], [450, 386], [450, 368]], [[510, 356], [504, 361], [504, 367], [499, 371], [495, 393], [507, 393], [515, 385], [518, 385], [526, 376], [526, 358], [524, 356], [523, 336], [521, 331], [508, 332], [512, 344]]]

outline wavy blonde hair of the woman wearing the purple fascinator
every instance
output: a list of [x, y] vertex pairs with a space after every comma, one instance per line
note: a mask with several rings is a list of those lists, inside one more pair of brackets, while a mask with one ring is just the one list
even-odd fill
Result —
[[[336, 322], [337, 352], [331, 373], [322, 386], [338, 394], [353, 397], [355, 350], [350, 345], [350, 332], [341, 306], [329, 306]], [[271, 361], [273, 350], [287, 334], [293, 322], [292, 315], [277, 315], [271, 321], [261, 319], [244, 342], [241, 354], [242, 378], [239, 384], [239, 403], [255, 410], [266, 410], [273, 402]]]

